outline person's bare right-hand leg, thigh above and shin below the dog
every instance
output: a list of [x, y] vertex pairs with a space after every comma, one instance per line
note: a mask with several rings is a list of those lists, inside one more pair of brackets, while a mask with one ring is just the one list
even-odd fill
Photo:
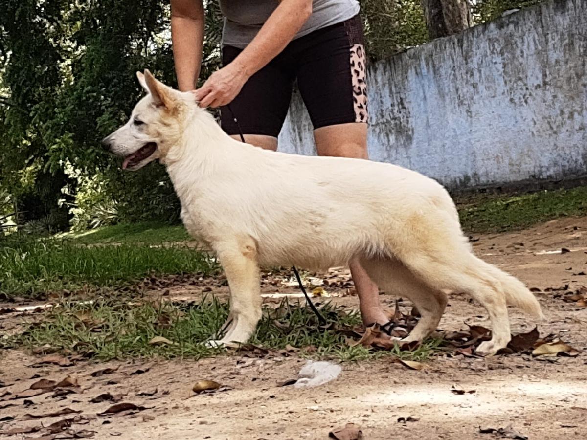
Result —
[[[367, 124], [365, 123], [352, 122], [316, 128], [314, 140], [318, 155], [321, 156], [369, 158], [367, 154]], [[377, 285], [369, 278], [358, 259], [352, 260], [349, 268], [359, 296], [363, 323], [387, 323], [389, 318], [379, 302]]]

